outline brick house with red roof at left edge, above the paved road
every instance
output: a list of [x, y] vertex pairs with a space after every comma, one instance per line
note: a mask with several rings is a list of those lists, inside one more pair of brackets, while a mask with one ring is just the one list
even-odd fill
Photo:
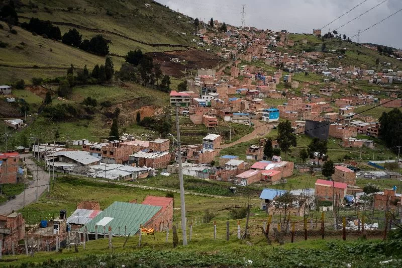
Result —
[[0, 153], [0, 184], [16, 184], [20, 167], [19, 153]]

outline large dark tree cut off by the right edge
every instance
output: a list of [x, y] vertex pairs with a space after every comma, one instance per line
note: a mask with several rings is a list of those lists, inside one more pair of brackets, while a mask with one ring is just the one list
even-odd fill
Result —
[[402, 144], [402, 112], [394, 108], [388, 113], [383, 112], [379, 118], [379, 135], [389, 148]]

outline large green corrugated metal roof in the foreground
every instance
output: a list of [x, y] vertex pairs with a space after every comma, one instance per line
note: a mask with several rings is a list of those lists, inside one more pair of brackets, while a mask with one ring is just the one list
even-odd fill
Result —
[[[138, 232], [140, 224], [145, 225], [162, 207], [142, 205], [136, 203], [114, 202], [103, 212], [100, 212], [95, 218], [86, 224], [88, 233], [95, 233], [95, 225], [105, 217], [113, 218], [106, 225], [106, 233], [109, 226], [112, 227], [112, 235], [125, 234], [125, 226], [127, 226], [127, 234], [134, 235]], [[104, 221], [107, 219], [104, 219]], [[80, 229], [84, 231], [84, 227]], [[98, 234], [103, 234], [103, 225], [97, 226]]]

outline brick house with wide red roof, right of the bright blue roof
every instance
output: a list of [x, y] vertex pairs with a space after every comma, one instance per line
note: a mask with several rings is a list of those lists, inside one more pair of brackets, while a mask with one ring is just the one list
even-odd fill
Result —
[[334, 195], [343, 200], [346, 195], [347, 184], [330, 182], [318, 179], [315, 184], [315, 195], [321, 201], [333, 201]]

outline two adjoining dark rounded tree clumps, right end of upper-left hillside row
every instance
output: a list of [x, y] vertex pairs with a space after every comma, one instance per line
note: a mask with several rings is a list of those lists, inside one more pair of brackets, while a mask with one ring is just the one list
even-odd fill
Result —
[[92, 54], [101, 56], [109, 54], [109, 41], [102, 35], [95, 35], [90, 40], [82, 40], [82, 35], [77, 29], [73, 28], [63, 35], [61, 41], [66, 45], [78, 47]]

